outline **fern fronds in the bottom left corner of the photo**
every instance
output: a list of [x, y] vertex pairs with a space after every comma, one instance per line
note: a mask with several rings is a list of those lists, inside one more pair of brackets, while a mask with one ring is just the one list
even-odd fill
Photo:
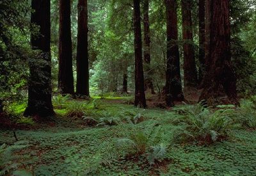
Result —
[[15, 143], [12, 146], [7, 146], [5, 144], [0, 146], [0, 175], [6, 175], [13, 170], [17, 169], [19, 166], [15, 164], [15, 160], [20, 157], [14, 156], [13, 153], [26, 147], [23, 142]]

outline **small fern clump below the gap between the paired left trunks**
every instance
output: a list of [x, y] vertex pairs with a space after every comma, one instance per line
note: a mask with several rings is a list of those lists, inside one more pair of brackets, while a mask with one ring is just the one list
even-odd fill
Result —
[[84, 102], [70, 102], [67, 104], [67, 116], [73, 118], [82, 118], [87, 105], [88, 104]]

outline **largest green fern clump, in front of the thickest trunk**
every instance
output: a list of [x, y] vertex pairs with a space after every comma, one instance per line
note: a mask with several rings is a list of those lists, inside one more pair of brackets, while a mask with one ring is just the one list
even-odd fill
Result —
[[212, 143], [225, 139], [230, 129], [234, 127], [234, 122], [230, 118], [234, 109], [213, 111], [199, 103], [195, 106], [176, 108], [175, 111], [179, 116], [173, 122], [181, 125], [175, 134], [177, 140]]

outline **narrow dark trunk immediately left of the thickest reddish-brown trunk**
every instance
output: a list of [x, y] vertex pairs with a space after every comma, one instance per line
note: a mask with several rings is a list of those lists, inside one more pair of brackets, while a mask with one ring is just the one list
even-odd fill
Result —
[[198, 83], [202, 83], [205, 73], [205, 0], [199, 0], [199, 61]]

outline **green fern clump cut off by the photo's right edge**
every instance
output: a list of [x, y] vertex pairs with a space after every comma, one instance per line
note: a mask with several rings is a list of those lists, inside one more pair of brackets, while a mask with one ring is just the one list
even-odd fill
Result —
[[235, 122], [248, 129], [256, 129], [256, 103], [253, 103], [253, 99], [242, 100], [233, 116]]

